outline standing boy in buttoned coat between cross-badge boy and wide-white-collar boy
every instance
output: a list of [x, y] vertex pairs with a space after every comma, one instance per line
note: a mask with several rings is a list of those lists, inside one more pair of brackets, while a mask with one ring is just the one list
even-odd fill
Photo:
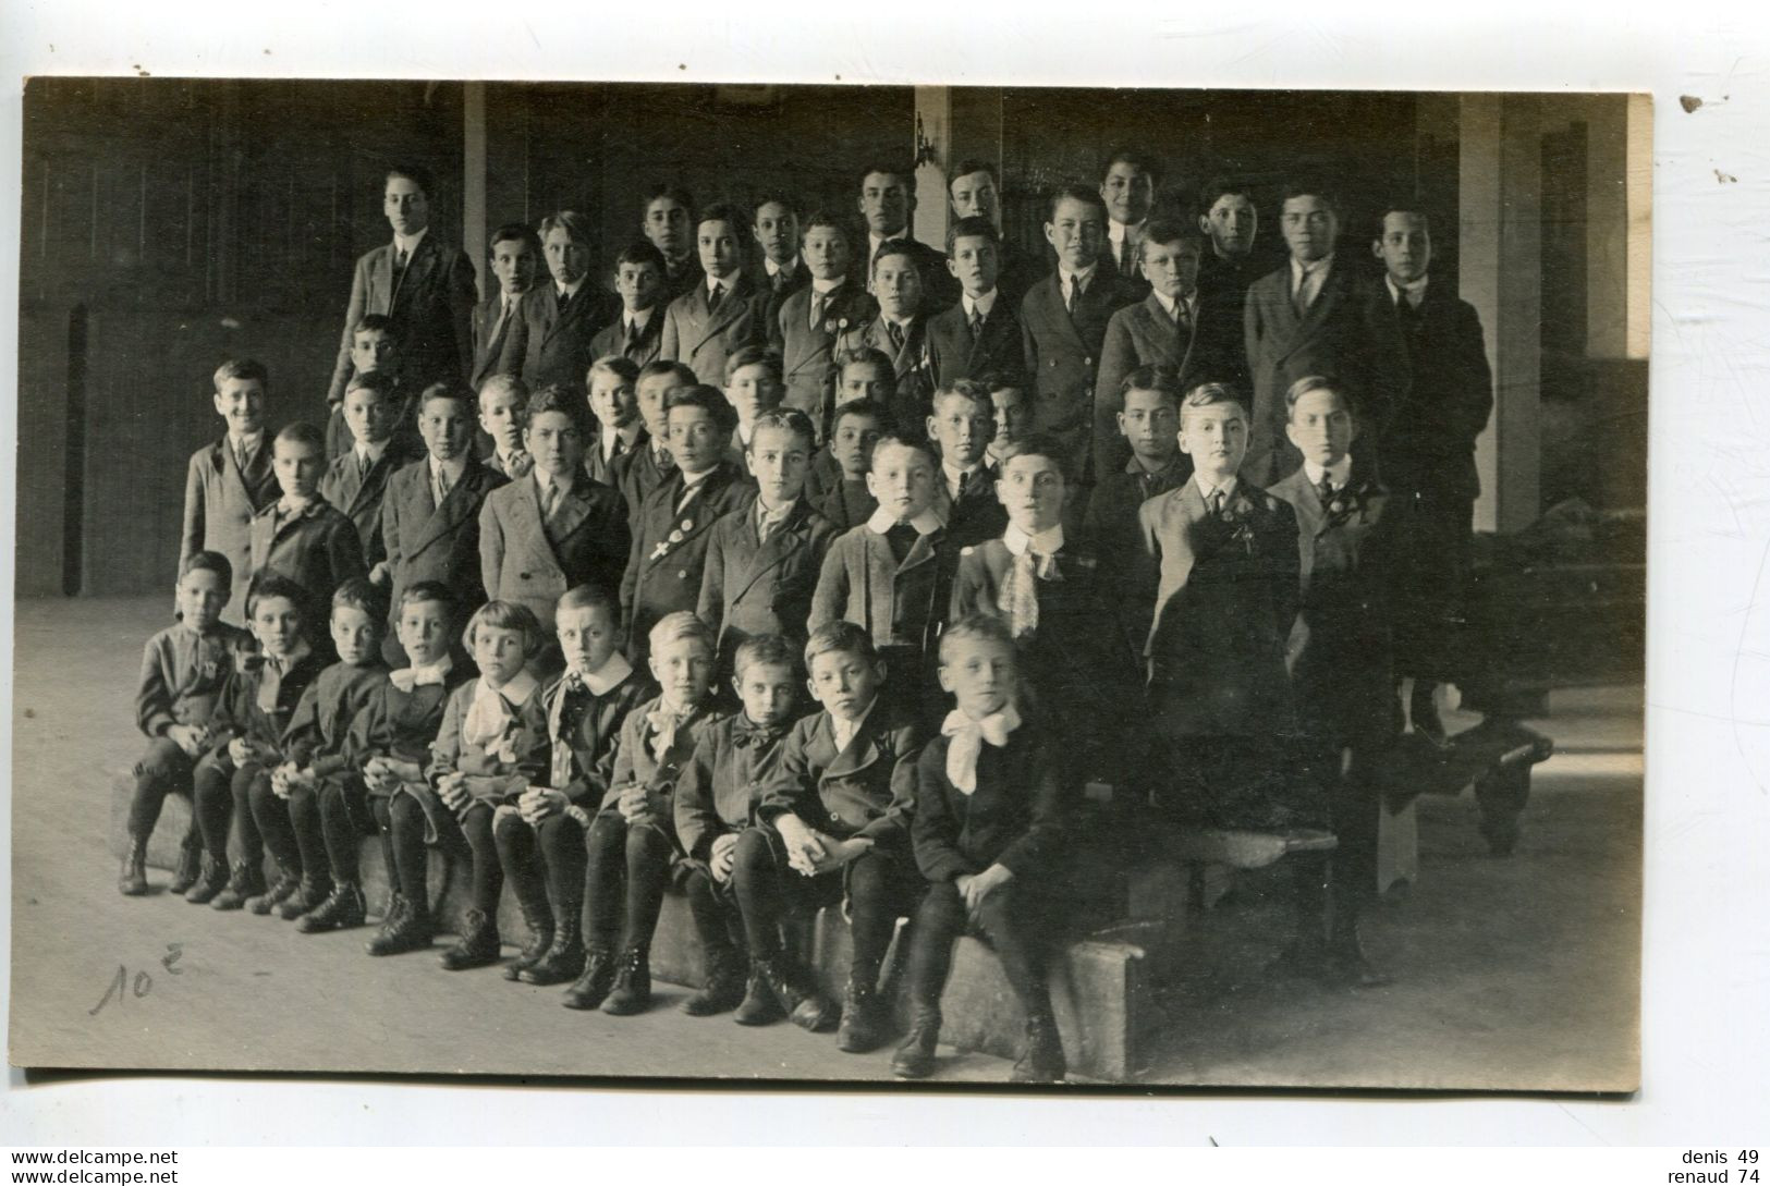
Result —
[[745, 446], [756, 501], [713, 524], [696, 612], [719, 632], [722, 669], [754, 634], [804, 644], [811, 595], [837, 535], [805, 497], [811, 443], [805, 412], [763, 412]]

